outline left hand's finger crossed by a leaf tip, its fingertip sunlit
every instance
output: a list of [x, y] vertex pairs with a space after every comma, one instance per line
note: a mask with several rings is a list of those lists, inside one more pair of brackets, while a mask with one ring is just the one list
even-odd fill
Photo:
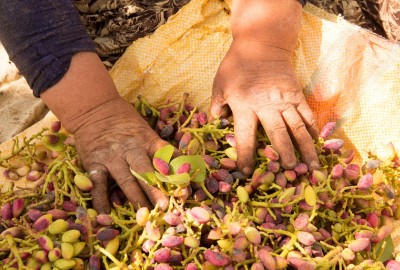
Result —
[[[150, 163], [150, 159], [138, 158], [137, 154], [135, 154], [134, 152], [129, 152], [126, 156], [126, 160], [129, 166], [137, 173], [154, 171], [154, 168]], [[149, 184], [141, 180], [137, 181], [153, 205], [158, 204], [162, 209], [166, 209], [168, 207], [168, 197], [164, 193], [162, 193], [161, 190], [156, 187], [150, 186]]]

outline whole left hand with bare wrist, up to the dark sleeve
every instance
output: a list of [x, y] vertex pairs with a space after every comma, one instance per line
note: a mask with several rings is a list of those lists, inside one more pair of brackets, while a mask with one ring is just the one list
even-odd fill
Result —
[[74, 55], [63, 78], [40, 97], [74, 134], [83, 166], [92, 172], [93, 207], [98, 212], [110, 209], [110, 177], [136, 208], [156, 203], [162, 208], [167, 206], [168, 199], [160, 190], [137, 180], [130, 172], [130, 167], [139, 173], [153, 171], [150, 157], [167, 142], [120, 97], [95, 53]]

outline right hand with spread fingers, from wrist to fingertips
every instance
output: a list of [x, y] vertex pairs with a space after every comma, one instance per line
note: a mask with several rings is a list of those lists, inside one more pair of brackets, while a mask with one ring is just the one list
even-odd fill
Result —
[[245, 174], [255, 164], [258, 121], [285, 169], [296, 165], [295, 146], [310, 171], [319, 167], [313, 142], [318, 128], [290, 55], [276, 47], [236, 39], [216, 74], [211, 114], [220, 117], [227, 113], [227, 106], [232, 111], [238, 166]]

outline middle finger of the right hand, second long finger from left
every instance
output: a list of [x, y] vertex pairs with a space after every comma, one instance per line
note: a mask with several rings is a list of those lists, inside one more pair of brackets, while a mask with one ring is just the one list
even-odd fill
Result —
[[281, 157], [282, 167], [293, 169], [297, 163], [296, 156], [292, 140], [281, 114], [277, 110], [264, 110], [264, 113], [260, 113], [258, 118], [271, 144]]

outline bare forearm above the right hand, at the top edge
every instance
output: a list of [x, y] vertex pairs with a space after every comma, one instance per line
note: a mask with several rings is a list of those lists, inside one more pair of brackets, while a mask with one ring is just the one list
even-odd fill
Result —
[[233, 39], [291, 53], [301, 27], [301, 10], [298, 0], [233, 0]]

